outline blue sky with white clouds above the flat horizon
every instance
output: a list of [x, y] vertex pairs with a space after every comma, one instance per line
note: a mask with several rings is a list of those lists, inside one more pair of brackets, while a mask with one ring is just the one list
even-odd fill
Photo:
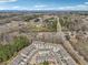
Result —
[[0, 0], [0, 10], [88, 11], [88, 0]]

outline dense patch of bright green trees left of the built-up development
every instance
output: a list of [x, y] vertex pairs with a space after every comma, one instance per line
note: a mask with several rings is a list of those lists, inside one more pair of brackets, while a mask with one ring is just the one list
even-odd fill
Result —
[[0, 63], [10, 59], [21, 48], [30, 44], [26, 36], [17, 36], [13, 42], [7, 45], [0, 45]]

